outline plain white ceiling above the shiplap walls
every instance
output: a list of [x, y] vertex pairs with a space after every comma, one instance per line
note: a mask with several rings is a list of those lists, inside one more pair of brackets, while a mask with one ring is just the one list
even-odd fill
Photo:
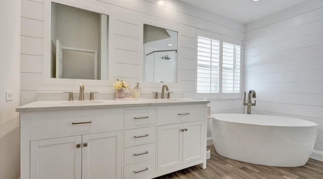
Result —
[[242, 24], [248, 24], [307, 0], [180, 0]]

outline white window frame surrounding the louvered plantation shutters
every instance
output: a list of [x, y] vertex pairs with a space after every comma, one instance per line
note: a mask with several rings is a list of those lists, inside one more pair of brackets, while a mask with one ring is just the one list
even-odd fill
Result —
[[[220, 61], [219, 61], [219, 92], [218, 93], [197, 93], [197, 50], [198, 50], [198, 37], [220, 41]], [[223, 42], [240, 46], [240, 89], [239, 93], [223, 93], [222, 92], [222, 78], [223, 78]], [[203, 99], [206, 97], [208, 100], [221, 100], [221, 99], [241, 99], [242, 98], [242, 84], [243, 84], [243, 43], [242, 40], [237, 40], [228, 36], [220, 35], [213, 32], [204, 30], [196, 30], [196, 54], [195, 54], [195, 98]]]

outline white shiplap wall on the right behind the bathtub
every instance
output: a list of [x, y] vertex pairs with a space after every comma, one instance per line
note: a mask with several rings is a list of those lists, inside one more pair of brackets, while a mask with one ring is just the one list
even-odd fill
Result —
[[323, 1], [247, 24], [244, 52], [245, 90], [257, 95], [252, 113], [317, 123], [314, 150], [323, 152]]

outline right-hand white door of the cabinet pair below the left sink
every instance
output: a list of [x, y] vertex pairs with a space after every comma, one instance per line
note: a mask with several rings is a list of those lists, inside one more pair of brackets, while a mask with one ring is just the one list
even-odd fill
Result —
[[82, 136], [82, 179], [121, 178], [121, 131]]

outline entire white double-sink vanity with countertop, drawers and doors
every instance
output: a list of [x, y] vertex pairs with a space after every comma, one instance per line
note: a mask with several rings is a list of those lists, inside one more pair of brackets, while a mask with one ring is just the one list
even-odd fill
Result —
[[21, 179], [148, 179], [197, 164], [205, 168], [207, 103], [19, 107]]

